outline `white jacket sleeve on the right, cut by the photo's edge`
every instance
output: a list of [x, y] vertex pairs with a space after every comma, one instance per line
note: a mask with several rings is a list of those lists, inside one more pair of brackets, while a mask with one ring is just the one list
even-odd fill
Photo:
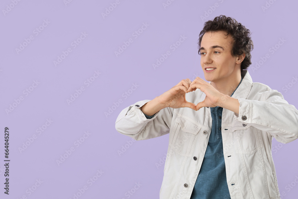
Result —
[[238, 101], [239, 115], [234, 113], [234, 119], [266, 131], [284, 144], [298, 138], [298, 110], [277, 90], [265, 91], [262, 101], [242, 98]]

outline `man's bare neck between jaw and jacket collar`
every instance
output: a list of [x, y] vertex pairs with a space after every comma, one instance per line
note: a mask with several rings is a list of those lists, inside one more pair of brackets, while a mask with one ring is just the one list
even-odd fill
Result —
[[233, 78], [225, 78], [218, 81], [211, 82], [211, 85], [218, 90], [219, 92], [231, 96], [235, 89], [238, 87], [241, 81], [241, 72], [237, 72], [237, 74]]

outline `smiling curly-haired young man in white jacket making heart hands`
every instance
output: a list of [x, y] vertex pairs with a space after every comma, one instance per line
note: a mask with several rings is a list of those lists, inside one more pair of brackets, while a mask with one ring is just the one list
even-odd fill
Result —
[[298, 111], [277, 90], [252, 82], [250, 31], [219, 16], [200, 33], [207, 81], [183, 79], [153, 100], [123, 109], [118, 132], [135, 140], [169, 135], [160, 199], [280, 198], [271, 141], [298, 138]]

